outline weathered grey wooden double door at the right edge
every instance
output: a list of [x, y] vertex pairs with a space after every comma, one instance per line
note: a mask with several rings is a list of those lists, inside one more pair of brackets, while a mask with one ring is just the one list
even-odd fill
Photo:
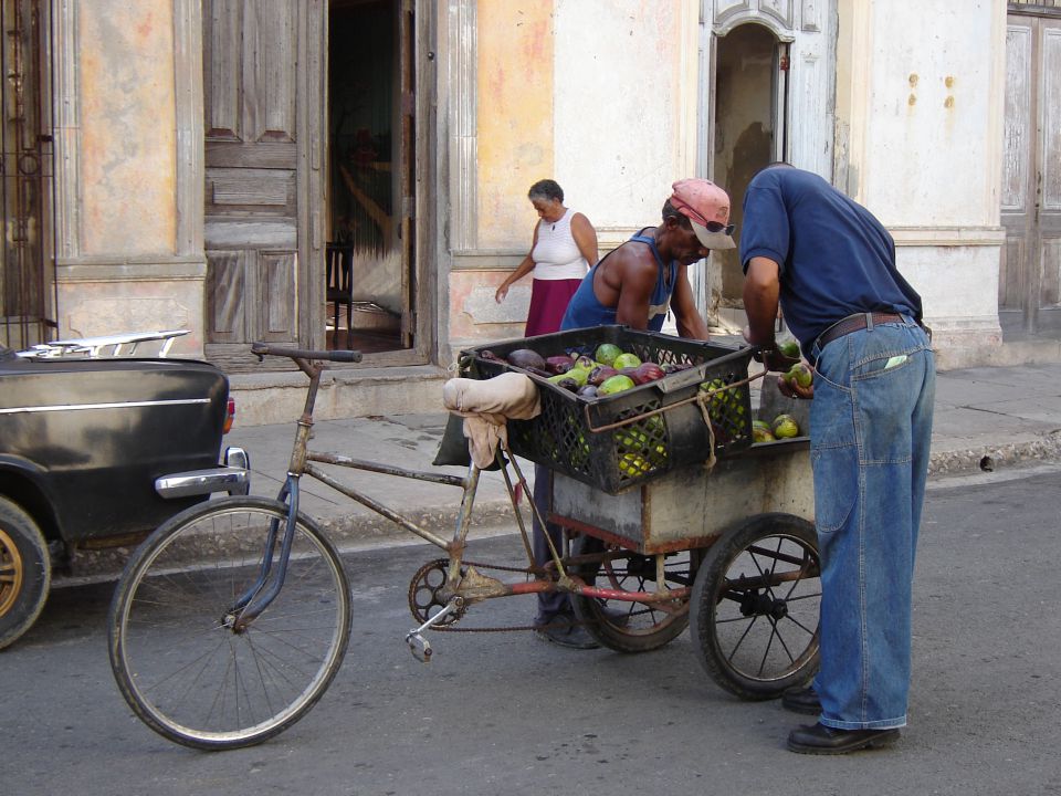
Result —
[[1061, 336], [1061, 18], [1010, 14], [999, 322], [1009, 339]]

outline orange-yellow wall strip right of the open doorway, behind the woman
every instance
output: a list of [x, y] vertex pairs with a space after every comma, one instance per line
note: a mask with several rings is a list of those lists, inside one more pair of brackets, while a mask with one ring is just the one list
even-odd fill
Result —
[[551, 178], [553, 3], [491, 0], [479, 15], [479, 245], [525, 243], [530, 185]]

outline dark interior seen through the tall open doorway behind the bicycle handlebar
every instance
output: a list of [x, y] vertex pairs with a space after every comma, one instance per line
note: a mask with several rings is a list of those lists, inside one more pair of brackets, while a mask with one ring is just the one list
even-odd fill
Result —
[[327, 269], [327, 341], [364, 353], [405, 347], [395, 2], [328, 7], [328, 243], [343, 256]]

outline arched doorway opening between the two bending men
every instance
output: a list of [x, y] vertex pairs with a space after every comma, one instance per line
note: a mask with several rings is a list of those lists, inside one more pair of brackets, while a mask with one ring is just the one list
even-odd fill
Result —
[[[774, 33], [755, 23], [738, 25], [717, 40], [713, 172], [729, 193], [729, 220], [736, 224], [738, 243], [748, 182], [759, 169], [784, 159], [785, 49]], [[718, 313], [726, 317], [743, 306], [739, 250], [713, 252], [712, 260], [721, 280]]]

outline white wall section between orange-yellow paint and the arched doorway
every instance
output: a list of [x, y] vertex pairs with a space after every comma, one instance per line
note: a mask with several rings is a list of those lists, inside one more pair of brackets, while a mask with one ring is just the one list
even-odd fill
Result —
[[694, 176], [696, 9], [556, 0], [555, 11], [556, 179], [611, 248], [659, 223], [671, 184]]

